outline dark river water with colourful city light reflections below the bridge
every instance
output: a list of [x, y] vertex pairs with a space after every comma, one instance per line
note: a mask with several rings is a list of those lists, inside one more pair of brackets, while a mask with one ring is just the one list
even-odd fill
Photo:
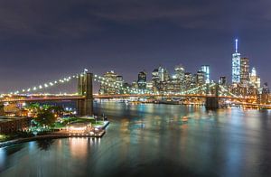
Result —
[[102, 138], [1, 148], [0, 176], [271, 176], [271, 111], [103, 102], [95, 112], [111, 122]]

